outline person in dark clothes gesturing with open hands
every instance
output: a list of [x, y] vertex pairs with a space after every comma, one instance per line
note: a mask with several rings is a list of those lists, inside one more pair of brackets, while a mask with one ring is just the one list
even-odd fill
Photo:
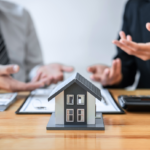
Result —
[[[129, 0], [125, 7], [120, 38], [114, 40], [117, 56], [112, 66], [88, 68], [91, 79], [103, 86], [125, 88], [134, 83], [140, 72], [137, 88], [150, 88], [150, 0]], [[134, 41], [134, 42], [133, 42]]]

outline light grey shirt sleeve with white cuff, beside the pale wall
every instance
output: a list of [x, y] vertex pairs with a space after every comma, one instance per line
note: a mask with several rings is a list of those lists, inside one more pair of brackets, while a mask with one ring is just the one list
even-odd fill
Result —
[[26, 71], [28, 81], [31, 81], [36, 76], [37, 70], [43, 65], [42, 51], [37, 38], [35, 27], [31, 16], [26, 11], [27, 16], [27, 37], [26, 37]]

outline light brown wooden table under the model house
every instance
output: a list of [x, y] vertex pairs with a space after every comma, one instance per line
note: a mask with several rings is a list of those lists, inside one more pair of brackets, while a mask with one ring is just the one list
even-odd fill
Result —
[[[110, 90], [118, 95], [150, 95], [150, 90]], [[27, 95], [27, 94], [25, 94]], [[150, 113], [104, 115], [105, 131], [47, 131], [50, 115], [16, 115], [18, 98], [0, 112], [0, 150], [150, 150]]]

